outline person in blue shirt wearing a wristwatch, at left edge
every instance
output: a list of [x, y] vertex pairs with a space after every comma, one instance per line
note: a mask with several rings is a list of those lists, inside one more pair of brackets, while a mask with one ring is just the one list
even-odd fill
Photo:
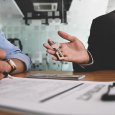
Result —
[[30, 58], [0, 32], [0, 78], [4, 77], [4, 73], [15, 74], [28, 71], [30, 68]]

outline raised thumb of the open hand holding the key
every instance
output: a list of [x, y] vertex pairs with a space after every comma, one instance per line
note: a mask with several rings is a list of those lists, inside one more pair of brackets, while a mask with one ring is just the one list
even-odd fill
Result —
[[58, 35], [60, 37], [64, 38], [65, 40], [70, 41], [70, 42], [73, 42], [73, 41], [75, 41], [77, 39], [76, 37], [71, 36], [71, 35], [69, 35], [69, 34], [67, 34], [65, 32], [62, 32], [62, 31], [58, 31]]

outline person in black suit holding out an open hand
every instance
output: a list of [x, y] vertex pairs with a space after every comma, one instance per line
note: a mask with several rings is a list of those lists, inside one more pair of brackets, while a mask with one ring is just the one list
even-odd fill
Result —
[[115, 11], [93, 20], [87, 50], [78, 38], [64, 32], [58, 34], [69, 41], [60, 43], [64, 57], [57, 59], [56, 52], [49, 45], [51, 39], [44, 44], [47, 52], [54, 55], [54, 60], [73, 62], [74, 71], [115, 69]]

